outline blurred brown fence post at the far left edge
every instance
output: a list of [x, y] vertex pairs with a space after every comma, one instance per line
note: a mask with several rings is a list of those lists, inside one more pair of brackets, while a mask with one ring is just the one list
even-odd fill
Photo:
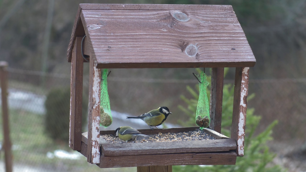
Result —
[[5, 152], [5, 168], [6, 172], [12, 172], [12, 143], [9, 138], [9, 109], [7, 104], [7, 68], [8, 63], [0, 61], [0, 84], [1, 84], [1, 100], [2, 100], [2, 123], [4, 135], [4, 152]]

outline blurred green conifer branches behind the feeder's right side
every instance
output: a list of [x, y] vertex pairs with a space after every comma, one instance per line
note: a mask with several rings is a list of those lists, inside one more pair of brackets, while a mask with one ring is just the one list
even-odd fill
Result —
[[[227, 71], [227, 70], [226, 70]], [[226, 73], [225, 71], [225, 73]], [[207, 78], [207, 80], [210, 80]], [[197, 100], [199, 98], [195, 90], [187, 86], [188, 92], [193, 96], [187, 99], [184, 95], [181, 98], [188, 105], [187, 108], [179, 106], [186, 114], [190, 116], [190, 120], [182, 123], [183, 126], [195, 126], [194, 117], [196, 115]], [[207, 88], [207, 92], [209, 92]], [[225, 84], [223, 87], [223, 102], [222, 102], [222, 134], [230, 137], [230, 127], [232, 125], [233, 114], [233, 93], [234, 86], [232, 84]], [[209, 93], [207, 93], [209, 95]], [[248, 96], [248, 100], [252, 99], [254, 94]], [[251, 172], [279, 172], [284, 171], [281, 167], [276, 165], [269, 165], [274, 154], [269, 151], [267, 141], [272, 140], [271, 133], [273, 127], [278, 123], [277, 120], [272, 122], [262, 133], [254, 136], [254, 132], [259, 125], [261, 117], [254, 115], [254, 108], [248, 108], [247, 120], [244, 140], [244, 157], [237, 157], [236, 165], [217, 165], [217, 166], [173, 166], [174, 171], [213, 171], [213, 172], [228, 172], [228, 171], [251, 171]], [[184, 125], [185, 124], [185, 125]]]

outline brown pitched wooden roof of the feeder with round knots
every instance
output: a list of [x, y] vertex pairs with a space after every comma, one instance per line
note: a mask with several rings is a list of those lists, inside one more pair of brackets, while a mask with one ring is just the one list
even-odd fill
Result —
[[80, 4], [70, 39], [86, 34], [98, 68], [253, 67], [232, 6]]

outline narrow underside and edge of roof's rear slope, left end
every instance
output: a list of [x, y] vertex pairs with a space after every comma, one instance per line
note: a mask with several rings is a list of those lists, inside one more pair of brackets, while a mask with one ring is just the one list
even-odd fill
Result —
[[80, 13], [81, 13], [81, 7], [79, 5], [79, 8], [78, 8], [77, 13], [76, 13], [76, 18], [74, 19], [71, 38], [70, 38], [69, 45], [68, 45], [68, 50], [67, 50], [67, 60], [68, 60], [68, 62], [71, 62], [73, 42], [75, 41], [76, 37], [78, 37], [78, 36], [83, 37], [85, 35], [85, 30], [84, 30], [82, 21], [80, 20]]

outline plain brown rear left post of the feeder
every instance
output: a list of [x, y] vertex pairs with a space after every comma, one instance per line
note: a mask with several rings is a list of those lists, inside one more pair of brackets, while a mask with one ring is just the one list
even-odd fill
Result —
[[76, 37], [71, 60], [69, 147], [76, 151], [81, 150], [82, 142], [83, 57], [81, 43], [82, 37]]

